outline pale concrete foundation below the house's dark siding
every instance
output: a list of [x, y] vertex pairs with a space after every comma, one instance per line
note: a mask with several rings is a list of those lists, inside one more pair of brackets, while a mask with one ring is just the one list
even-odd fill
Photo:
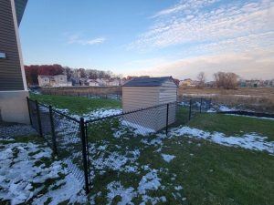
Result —
[[29, 124], [28, 91], [0, 91], [0, 120]]

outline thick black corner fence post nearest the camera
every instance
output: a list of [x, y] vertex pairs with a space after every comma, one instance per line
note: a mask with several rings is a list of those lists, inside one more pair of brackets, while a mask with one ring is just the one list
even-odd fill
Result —
[[83, 167], [84, 167], [84, 175], [85, 175], [85, 190], [88, 194], [89, 189], [89, 172], [88, 172], [88, 158], [87, 158], [87, 136], [85, 132], [85, 122], [84, 118], [80, 118], [80, 135], [82, 141], [82, 154], [83, 154]]

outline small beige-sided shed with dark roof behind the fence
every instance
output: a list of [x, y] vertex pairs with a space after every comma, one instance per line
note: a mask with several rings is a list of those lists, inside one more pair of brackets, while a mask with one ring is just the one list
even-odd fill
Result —
[[[135, 77], [122, 87], [122, 110], [150, 108], [124, 117], [126, 121], [158, 131], [175, 121], [177, 85], [173, 77]], [[159, 105], [159, 106], [158, 106]], [[162, 105], [162, 106], [160, 106]]]

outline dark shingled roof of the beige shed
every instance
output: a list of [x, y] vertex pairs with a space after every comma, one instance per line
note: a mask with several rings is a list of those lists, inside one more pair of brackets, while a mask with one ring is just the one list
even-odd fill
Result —
[[174, 81], [173, 77], [134, 77], [123, 87], [161, 87], [165, 81], [170, 79]]

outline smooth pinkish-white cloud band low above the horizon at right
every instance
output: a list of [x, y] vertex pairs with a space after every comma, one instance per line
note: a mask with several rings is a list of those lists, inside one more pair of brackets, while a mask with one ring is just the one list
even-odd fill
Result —
[[246, 78], [274, 78], [274, 46], [269, 51], [246, 52], [195, 56], [175, 60], [166, 60], [160, 64], [128, 73], [128, 75], [149, 75], [154, 77], [173, 76], [179, 79], [194, 78], [204, 71], [207, 80], [217, 71], [234, 72]]

